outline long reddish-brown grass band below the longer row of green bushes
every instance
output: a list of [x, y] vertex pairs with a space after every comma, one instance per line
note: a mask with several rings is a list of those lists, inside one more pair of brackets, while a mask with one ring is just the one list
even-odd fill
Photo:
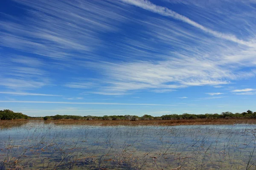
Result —
[[182, 119], [182, 120], [47, 120], [56, 125], [100, 125], [100, 126], [177, 126], [177, 125], [233, 125], [256, 124], [256, 119]]

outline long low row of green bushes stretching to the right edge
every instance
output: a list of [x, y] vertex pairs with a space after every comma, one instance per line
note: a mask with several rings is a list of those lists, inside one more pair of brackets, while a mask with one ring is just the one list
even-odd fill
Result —
[[75, 120], [93, 120], [93, 119], [103, 119], [103, 120], [179, 120], [179, 119], [242, 119], [242, 118], [256, 118], [256, 112], [248, 110], [243, 113], [232, 113], [232, 112], [222, 112], [221, 114], [188, 114], [184, 113], [181, 115], [178, 114], [170, 114], [163, 116], [132, 116], [132, 115], [114, 115], [114, 116], [72, 116], [72, 115], [55, 115], [55, 116], [45, 116], [44, 120], [59, 120], [59, 119], [75, 119]]

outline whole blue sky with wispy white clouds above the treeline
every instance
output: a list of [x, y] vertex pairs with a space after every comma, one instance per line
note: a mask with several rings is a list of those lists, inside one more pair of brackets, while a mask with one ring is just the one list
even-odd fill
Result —
[[256, 111], [255, 0], [1, 0], [0, 110]]

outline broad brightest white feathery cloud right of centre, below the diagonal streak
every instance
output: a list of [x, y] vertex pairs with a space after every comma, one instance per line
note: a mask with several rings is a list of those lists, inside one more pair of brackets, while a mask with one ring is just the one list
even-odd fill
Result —
[[100, 66], [107, 79], [104, 81], [107, 84], [99, 92], [102, 94], [124, 94], [143, 89], [154, 89], [155, 92], [174, 91], [188, 86], [224, 85], [229, 84], [232, 79], [241, 79], [242, 75], [253, 76], [239, 72], [234, 74], [232, 69], [219, 66], [217, 61], [185, 56], [159, 62], [91, 63], [93, 65], [97, 69]]

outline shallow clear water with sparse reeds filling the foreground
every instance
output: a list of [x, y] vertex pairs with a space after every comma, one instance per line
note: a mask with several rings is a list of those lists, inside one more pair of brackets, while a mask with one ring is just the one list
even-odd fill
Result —
[[29, 170], [255, 169], [255, 134], [256, 125], [103, 127], [29, 121], [0, 130], [0, 162], [6, 169]]

